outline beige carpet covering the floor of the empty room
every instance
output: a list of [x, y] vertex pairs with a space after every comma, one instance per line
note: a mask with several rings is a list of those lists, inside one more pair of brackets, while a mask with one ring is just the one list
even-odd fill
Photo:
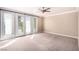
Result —
[[39, 33], [8, 40], [1, 51], [77, 51], [78, 40], [48, 33]]

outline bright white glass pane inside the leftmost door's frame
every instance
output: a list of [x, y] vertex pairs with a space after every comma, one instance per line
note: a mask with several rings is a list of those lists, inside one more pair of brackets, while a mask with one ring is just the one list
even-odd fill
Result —
[[5, 35], [12, 34], [12, 15], [4, 13]]

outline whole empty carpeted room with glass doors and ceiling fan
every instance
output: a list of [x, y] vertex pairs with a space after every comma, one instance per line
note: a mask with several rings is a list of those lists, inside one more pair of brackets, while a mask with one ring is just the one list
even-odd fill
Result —
[[0, 7], [0, 51], [78, 51], [78, 7]]

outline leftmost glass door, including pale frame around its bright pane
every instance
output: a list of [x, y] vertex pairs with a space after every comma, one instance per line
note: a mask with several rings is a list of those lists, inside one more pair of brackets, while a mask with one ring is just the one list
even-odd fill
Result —
[[11, 38], [13, 36], [13, 21], [14, 15], [10, 12], [2, 11], [2, 20], [1, 20], [1, 37], [2, 39]]

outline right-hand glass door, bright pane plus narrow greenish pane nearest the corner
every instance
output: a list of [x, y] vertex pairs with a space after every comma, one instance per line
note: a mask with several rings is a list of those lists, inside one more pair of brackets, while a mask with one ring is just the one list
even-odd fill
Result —
[[33, 34], [37, 32], [37, 19], [33, 16], [26, 16], [26, 34]]

